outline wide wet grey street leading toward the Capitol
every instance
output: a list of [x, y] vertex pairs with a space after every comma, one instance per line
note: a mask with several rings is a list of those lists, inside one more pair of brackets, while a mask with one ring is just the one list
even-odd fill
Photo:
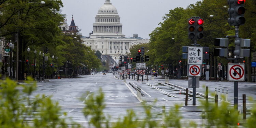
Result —
[[[175, 104], [179, 104], [181, 105], [180, 110], [183, 116], [182, 122], [188, 123], [189, 120], [193, 120], [197, 124], [201, 124], [202, 112], [197, 107], [192, 106], [191, 95], [189, 95], [188, 106], [185, 106], [185, 91], [181, 87], [188, 87], [187, 80], [169, 80], [171, 85], [168, 85], [165, 83], [165, 79], [154, 77], [154, 80], [151, 80], [151, 76], [148, 76], [148, 81], [144, 79], [144, 82], [141, 80], [137, 82], [137, 80], [127, 79], [126, 83], [124, 83], [124, 80], [119, 80], [112, 73], [107, 73], [106, 75], [82, 75], [74, 79], [55, 79], [38, 82], [38, 89], [34, 91], [33, 96], [38, 94], [52, 96], [54, 101], [59, 102], [62, 111], [68, 113], [68, 117], [72, 117], [73, 121], [87, 126], [88, 119], [82, 113], [82, 109], [85, 107], [84, 100], [90, 93], [98, 93], [99, 88], [102, 88], [106, 105], [104, 112], [106, 116], [111, 116], [112, 122], [126, 115], [126, 110], [128, 109], [134, 110], [139, 119], [143, 119], [145, 113], [140, 103], [141, 100], [136, 97], [137, 91], [129, 83], [142, 89], [144, 94], [142, 100], [148, 105], [152, 105], [152, 112], [156, 115], [154, 120], [162, 120], [163, 105], [166, 106], [166, 111], [168, 111]], [[221, 88], [221, 94], [222, 88], [224, 88], [224, 94], [226, 95], [226, 89], [228, 89], [228, 101], [233, 103], [233, 82], [201, 81], [200, 88], [197, 88], [197, 93], [204, 94], [205, 88], [203, 85], [209, 86], [209, 95], [215, 93], [215, 88]], [[239, 83], [239, 110], [242, 110], [242, 94], [246, 94], [247, 109], [254, 105], [248, 101], [248, 97], [256, 98], [256, 87], [254, 86], [255, 83]], [[88, 95], [87, 92], [89, 92]], [[204, 100], [202, 96], [197, 95], [197, 106], [200, 106], [199, 100], [201, 99]], [[155, 102], [156, 100], [157, 102]], [[213, 102], [214, 100], [210, 99], [209, 101]]]

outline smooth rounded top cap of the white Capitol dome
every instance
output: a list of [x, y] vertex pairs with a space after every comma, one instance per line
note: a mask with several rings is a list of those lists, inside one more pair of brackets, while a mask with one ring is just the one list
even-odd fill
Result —
[[110, 3], [110, 0], [106, 0], [98, 11], [98, 14], [118, 14], [115, 6]]

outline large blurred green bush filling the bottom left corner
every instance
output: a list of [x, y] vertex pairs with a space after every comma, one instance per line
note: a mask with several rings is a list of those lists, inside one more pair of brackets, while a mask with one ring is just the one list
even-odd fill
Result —
[[[51, 96], [35, 96], [36, 82], [31, 77], [26, 84], [18, 85], [10, 79], [1, 81], [0, 89], [0, 127], [1, 128], [68, 128], [65, 118], [60, 118], [58, 102]], [[63, 113], [66, 115], [66, 113]], [[80, 125], [70, 123], [73, 128]]]

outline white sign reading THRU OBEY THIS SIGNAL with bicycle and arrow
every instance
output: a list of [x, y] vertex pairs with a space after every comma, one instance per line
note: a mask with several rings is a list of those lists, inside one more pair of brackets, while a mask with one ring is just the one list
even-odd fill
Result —
[[202, 65], [203, 47], [188, 47], [188, 64]]

